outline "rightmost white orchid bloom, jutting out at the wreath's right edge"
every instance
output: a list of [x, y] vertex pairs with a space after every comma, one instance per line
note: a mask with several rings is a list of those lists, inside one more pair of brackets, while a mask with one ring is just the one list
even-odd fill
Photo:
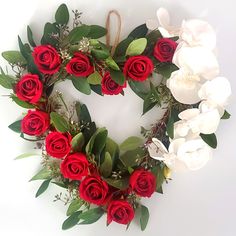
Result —
[[220, 106], [225, 106], [231, 95], [231, 86], [226, 78], [217, 77], [203, 84], [198, 94], [202, 100], [207, 99]]

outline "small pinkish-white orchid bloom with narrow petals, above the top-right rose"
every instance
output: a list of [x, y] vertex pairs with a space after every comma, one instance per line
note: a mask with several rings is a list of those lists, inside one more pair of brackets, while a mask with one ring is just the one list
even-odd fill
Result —
[[157, 20], [149, 19], [146, 21], [148, 29], [158, 29], [165, 38], [171, 38], [179, 35], [179, 29], [170, 25], [170, 16], [165, 8], [159, 8], [156, 15]]

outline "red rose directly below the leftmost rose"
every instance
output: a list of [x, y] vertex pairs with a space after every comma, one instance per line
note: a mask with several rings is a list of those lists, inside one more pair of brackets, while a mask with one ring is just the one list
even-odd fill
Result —
[[21, 131], [28, 135], [40, 136], [49, 128], [49, 125], [50, 117], [48, 113], [29, 110], [21, 121]]

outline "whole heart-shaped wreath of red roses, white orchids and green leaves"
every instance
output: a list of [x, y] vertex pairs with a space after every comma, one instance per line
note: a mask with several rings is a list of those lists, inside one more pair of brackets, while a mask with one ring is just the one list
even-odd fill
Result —
[[[41, 45], [28, 27], [28, 43], [19, 37], [20, 51], [2, 53], [15, 76], [1, 69], [0, 84], [12, 90], [17, 105], [29, 109], [9, 128], [42, 150], [42, 169], [32, 178], [44, 180], [36, 197], [50, 183], [68, 191], [63, 229], [91, 224], [104, 213], [107, 224], [128, 226], [139, 212], [144, 230], [149, 212], [140, 199], [162, 193], [171, 170], [204, 166], [217, 146], [214, 132], [220, 119], [230, 117], [225, 105], [231, 88], [227, 79], [217, 77], [215, 33], [202, 20], [170, 26], [168, 12], [160, 8], [159, 24], [148, 20], [119, 42], [116, 11], [109, 13], [106, 28], [82, 24], [81, 13], [73, 14], [70, 29], [69, 11], [62, 4], [55, 22], [46, 23]], [[112, 47], [111, 14], [119, 19]], [[106, 44], [98, 40], [105, 35]], [[96, 127], [85, 104], [77, 102], [70, 110], [62, 93], [52, 93], [64, 80], [82, 93], [102, 96], [124, 95], [129, 84], [144, 101], [143, 114], [154, 106], [165, 114], [151, 129], [142, 128], [144, 138], [129, 137], [118, 145], [106, 128]], [[64, 198], [57, 195], [56, 200]]]

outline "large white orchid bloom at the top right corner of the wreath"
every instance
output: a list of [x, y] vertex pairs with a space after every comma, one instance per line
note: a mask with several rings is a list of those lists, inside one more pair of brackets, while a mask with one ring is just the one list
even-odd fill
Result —
[[216, 33], [206, 21], [192, 19], [182, 22], [180, 39], [189, 46], [203, 46], [210, 50], [216, 47]]

